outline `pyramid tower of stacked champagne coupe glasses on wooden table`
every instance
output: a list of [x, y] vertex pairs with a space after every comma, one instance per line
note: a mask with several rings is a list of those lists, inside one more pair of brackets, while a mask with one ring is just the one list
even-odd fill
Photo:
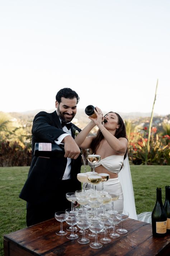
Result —
[[[55, 213], [56, 220], [61, 222], [61, 228], [56, 231], [56, 235], [67, 234], [68, 239], [79, 238], [78, 243], [90, 243], [90, 247], [96, 249], [101, 248], [103, 243], [110, 243], [112, 241], [110, 238], [120, 237], [119, 233], [127, 233], [127, 230], [123, 229], [123, 220], [129, 216], [128, 212], [114, 209], [113, 202], [119, 198], [119, 195], [104, 191], [104, 182], [110, 177], [107, 173], [95, 172], [94, 164], [100, 159], [99, 155], [88, 156], [88, 161], [93, 165], [93, 171], [77, 174], [77, 179], [82, 183], [82, 190], [67, 193], [66, 198], [71, 202], [71, 208], [66, 209], [65, 212]], [[96, 190], [96, 185], [99, 183], [102, 184], [101, 191]], [[79, 207], [74, 208], [75, 201], [79, 203]], [[67, 227], [69, 233], [63, 230], [63, 221], [69, 225]], [[117, 229], [117, 233], [115, 225], [120, 222], [122, 226]], [[98, 234], [103, 236], [98, 239]]]

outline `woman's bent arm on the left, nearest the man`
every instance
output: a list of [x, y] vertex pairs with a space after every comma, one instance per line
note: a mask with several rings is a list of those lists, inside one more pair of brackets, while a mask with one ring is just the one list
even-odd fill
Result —
[[77, 145], [82, 148], [90, 148], [90, 144], [94, 136], [87, 137], [90, 131], [94, 128], [95, 123], [91, 120], [90, 123], [79, 133], [74, 139]]

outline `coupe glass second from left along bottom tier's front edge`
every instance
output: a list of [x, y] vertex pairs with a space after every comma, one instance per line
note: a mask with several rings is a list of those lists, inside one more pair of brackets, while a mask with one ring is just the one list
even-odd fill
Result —
[[77, 211], [72, 211], [71, 209], [66, 209], [66, 223], [69, 224], [72, 229], [71, 229], [71, 234], [67, 235], [68, 239], [76, 239], [79, 236], [77, 234], [74, 234], [74, 226], [77, 224]]

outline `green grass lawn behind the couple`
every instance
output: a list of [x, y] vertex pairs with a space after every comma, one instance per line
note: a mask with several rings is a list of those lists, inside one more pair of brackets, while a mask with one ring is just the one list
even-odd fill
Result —
[[[90, 167], [86, 167], [90, 171]], [[18, 197], [27, 179], [29, 167], [0, 167], [0, 255], [3, 255], [3, 235], [26, 227], [26, 202]], [[84, 166], [82, 166], [84, 172]], [[132, 165], [131, 175], [137, 214], [152, 211], [156, 202], [156, 187], [170, 184], [170, 166]]]

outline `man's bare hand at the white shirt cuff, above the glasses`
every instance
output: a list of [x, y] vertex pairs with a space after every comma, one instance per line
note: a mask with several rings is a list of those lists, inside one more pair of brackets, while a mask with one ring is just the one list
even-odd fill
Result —
[[62, 142], [64, 143], [64, 150], [65, 150], [64, 157], [76, 159], [80, 154], [80, 148], [75, 143], [74, 139], [69, 135], [69, 136], [66, 136], [62, 140]]

